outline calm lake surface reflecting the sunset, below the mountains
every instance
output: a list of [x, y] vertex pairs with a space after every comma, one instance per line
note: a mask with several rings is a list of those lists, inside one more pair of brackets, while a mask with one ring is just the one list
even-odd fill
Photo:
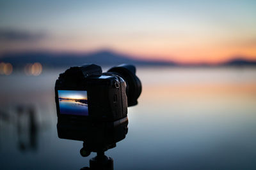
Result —
[[[59, 139], [54, 81], [0, 76], [1, 169], [80, 169], [81, 141]], [[115, 169], [256, 169], [256, 69], [140, 68], [129, 132], [106, 155]], [[29, 131], [29, 127], [35, 131]]]

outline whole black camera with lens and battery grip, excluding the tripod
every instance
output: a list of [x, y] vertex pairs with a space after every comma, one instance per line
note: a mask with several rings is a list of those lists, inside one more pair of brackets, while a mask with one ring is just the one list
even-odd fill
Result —
[[132, 65], [70, 67], [55, 84], [58, 136], [84, 141], [81, 155], [104, 152], [127, 134], [127, 106], [136, 105], [141, 82]]

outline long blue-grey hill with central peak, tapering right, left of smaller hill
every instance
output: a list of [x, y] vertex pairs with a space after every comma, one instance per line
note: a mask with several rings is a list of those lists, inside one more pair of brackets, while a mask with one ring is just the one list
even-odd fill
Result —
[[116, 64], [134, 64], [136, 66], [175, 66], [174, 62], [163, 60], [135, 59], [129, 55], [120, 55], [108, 50], [94, 53], [54, 53], [54, 52], [20, 52], [5, 53], [0, 61], [10, 62], [14, 67], [23, 67], [31, 62], [40, 62], [44, 67], [81, 66], [84, 63], [114, 66]]

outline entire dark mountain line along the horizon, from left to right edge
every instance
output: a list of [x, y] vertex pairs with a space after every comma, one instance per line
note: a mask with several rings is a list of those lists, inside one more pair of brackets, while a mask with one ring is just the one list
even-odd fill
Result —
[[242, 59], [243, 56], [232, 57], [218, 65], [212, 64], [179, 64], [166, 60], [138, 59], [136, 56], [124, 55], [111, 50], [100, 50], [92, 53], [72, 52], [13, 52], [0, 56], [0, 62], [10, 62], [13, 67], [21, 68], [28, 63], [40, 62], [43, 67], [70, 67], [81, 66], [85, 63], [99, 64], [100, 66], [115, 66], [118, 64], [134, 64], [136, 66], [182, 66], [182, 67], [212, 67], [212, 66], [256, 66], [256, 60]]

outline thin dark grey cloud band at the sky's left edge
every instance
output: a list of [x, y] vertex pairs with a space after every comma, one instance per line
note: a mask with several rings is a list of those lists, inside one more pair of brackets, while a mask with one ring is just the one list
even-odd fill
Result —
[[18, 29], [0, 29], [1, 41], [37, 41], [47, 36], [45, 32], [30, 32]]

